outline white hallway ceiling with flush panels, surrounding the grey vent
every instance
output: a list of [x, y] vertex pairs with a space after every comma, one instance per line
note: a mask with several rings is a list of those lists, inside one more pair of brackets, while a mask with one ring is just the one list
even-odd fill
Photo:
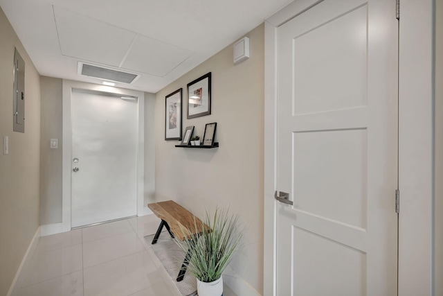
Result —
[[140, 77], [158, 92], [291, 0], [0, 0], [43, 76], [101, 83], [79, 62]]

